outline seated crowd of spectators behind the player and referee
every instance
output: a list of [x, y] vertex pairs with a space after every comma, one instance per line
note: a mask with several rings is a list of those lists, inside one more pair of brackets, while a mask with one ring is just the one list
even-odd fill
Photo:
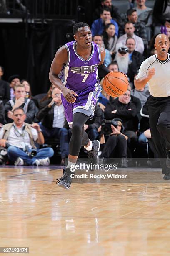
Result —
[[[166, 1], [155, 0], [153, 9], [145, 5], [146, 0], [129, 2], [127, 13], [120, 13], [111, 0], [101, 0], [94, 12], [92, 40], [105, 48], [104, 63], [110, 72], [124, 72], [129, 86], [116, 98], [101, 92], [95, 118], [84, 125], [90, 140], [100, 140], [102, 160], [120, 158], [122, 167], [128, 166], [127, 158], [157, 157], [148, 122], [148, 84], [137, 90], [135, 79], [143, 60], [156, 54], [157, 33], [170, 39]], [[71, 131], [60, 90], [51, 84], [46, 95], [32, 96], [27, 80], [12, 75], [6, 82], [3, 73], [0, 66], [0, 164], [48, 166], [59, 149], [60, 164], [65, 165]]]

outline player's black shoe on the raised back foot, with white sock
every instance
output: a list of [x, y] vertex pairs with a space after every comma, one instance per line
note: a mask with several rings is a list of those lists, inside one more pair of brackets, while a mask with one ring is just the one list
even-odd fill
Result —
[[85, 153], [88, 155], [88, 164], [99, 164], [99, 149], [100, 149], [100, 142], [95, 140], [92, 141], [92, 150], [87, 151]]

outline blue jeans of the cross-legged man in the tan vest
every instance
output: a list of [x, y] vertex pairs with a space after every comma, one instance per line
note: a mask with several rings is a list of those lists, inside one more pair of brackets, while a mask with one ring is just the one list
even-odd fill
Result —
[[[17, 159], [17, 157], [21, 157], [25, 163], [31, 165], [35, 162], [36, 159], [42, 159], [46, 157], [52, 157], [54, 155], [54, 151], [52, 148], [42, 148], [42, 149], [35, 149], [37, 151], [37, 155], [33, 158], [28, 156], [28, 154], [23, 151], [22, 149], [15, 147], [15, 146], [9, 146], [7, 148], [7, 154], [11, 161], [14, 161]], [[31, 152], [32, 149], [29, 149], [28, 152]]]

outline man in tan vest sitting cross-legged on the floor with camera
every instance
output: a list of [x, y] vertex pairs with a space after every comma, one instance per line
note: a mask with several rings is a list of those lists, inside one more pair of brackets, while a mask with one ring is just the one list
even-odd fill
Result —
[[24, 163], [48, 166], [50, 164], [49, 158], [54, 154], [53, 149], [36, 149], [35, 147], [35, 142], [44, 143], [40, 126], [37, 123], [32, 125], [25, 123], [26, 115], [22, 108], [15, 108], [13, 114], [13, 123], [2, 126], [0, 146], [8, 146], [8, 157], [15, 162], [16, 166], [24, 165]]

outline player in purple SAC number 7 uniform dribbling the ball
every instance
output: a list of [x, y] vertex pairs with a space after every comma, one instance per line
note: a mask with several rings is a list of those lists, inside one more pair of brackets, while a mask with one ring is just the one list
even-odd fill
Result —
[[76, 23], [73, 34], [75, 41], [58, 49], [49, 74], [52, 84], [61, 90], [65, 117], [72, 129], [67, 167], [58, 180], [58, 185], [65, 189], [70, 188], [70, 167], [75, 165], [81, 145], [85, 147], [88, 160], [93, 159], [92, 163], [96, 164], [100, 142], [89, 140], [84, 124], [93, 118], [101, 91], [97, 76], [105, 77], [109, 73], [103, 64], [105, 50], [92, 42], [90, 27]]

